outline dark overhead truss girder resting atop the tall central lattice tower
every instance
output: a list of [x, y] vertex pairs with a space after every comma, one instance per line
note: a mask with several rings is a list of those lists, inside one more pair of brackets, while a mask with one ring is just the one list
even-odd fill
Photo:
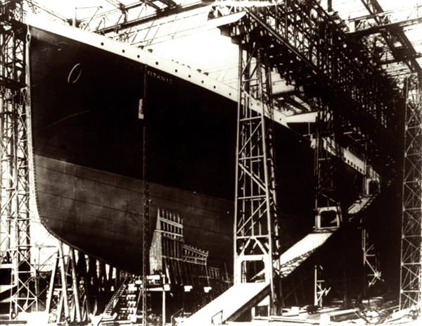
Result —
[[309, 103], [317, 99], [341, 117], [336, 132], [353, 130], [367, 139], [357, 146], [376, 168], [393, 175], [397, 157], [391, 144], [397, 142], [402, 94], [364, 44], [350, 39], [316, 1], [229, 9], [246, 14], [220, 27], [223, 32], [237, 41], [248, 34], [267, 40], [269, 63], [281, 77]]

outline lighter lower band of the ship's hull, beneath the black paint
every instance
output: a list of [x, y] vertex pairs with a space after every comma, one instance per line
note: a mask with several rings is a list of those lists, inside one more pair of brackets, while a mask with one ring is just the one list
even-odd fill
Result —
[[[64, 242], [112, 265], [134, 272], [141, 270], [142, 180], [43, 156], [35, 156], [35, 163], [38, 206], [46, 228]], [[198, 248], [206, 246], [212, 263], [228, 263], [231, 201], [155, 183], [148, 184], [148, 193], [148, 239], [158, 208], [177, 213], [184, 220], [186, 243]]]

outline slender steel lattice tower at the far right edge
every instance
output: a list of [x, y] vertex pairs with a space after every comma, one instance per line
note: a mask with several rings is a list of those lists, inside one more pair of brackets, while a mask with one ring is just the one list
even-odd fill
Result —
[[406, 82], [400, 308], [421, 311], [422, 291], [422, 93], [416, 74]]

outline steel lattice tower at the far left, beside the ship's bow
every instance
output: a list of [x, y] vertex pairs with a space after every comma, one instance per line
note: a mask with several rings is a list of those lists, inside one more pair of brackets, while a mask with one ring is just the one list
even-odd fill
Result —
[[0, 3], [1, 256], [11, 263], [10, 316], [38, 308], [31, 262], [25, 39], [22, 1]]

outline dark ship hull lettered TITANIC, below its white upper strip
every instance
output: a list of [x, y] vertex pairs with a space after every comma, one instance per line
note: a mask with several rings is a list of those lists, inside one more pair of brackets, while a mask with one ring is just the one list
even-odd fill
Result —
[[[186, 242], [230, 269], [236, 102], [74, 39], [30, 34], [34, 184], [47, 230], [139, 272], [146, 173], [148, 242], [164, 209], [183, 219]], [[288, 128], [275, 133], [280, 215], [294, 216], [281, 221], [287, 248], [313, 222], [313, 153]]]

